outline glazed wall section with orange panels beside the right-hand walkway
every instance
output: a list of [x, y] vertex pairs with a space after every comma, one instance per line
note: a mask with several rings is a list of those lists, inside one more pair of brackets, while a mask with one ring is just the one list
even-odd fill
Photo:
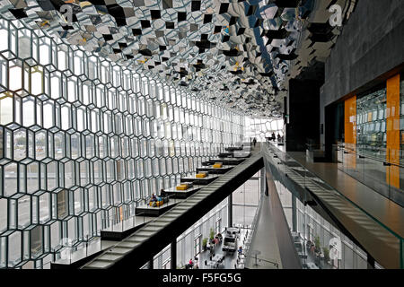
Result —
[[400, 205], [404, 204], [403, 85], [402, 75], [397, 74], [345, 101], [350, 107], [346, 113], [351, 114], [345, 115], [346, 150], [338, 154], [338, 169]]

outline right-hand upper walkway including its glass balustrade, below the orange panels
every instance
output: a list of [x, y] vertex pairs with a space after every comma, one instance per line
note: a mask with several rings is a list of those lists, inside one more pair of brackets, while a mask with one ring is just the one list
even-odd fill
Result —
[[[339, 222], [378, 263], [387, 268], [403, 266], [400, 239], [380, 223], [388, 224], [391, 230], [401, 236], [403, 224], [398, 222], [402, 222], [404, 217], [398, 204], [339, 171], [337, 164], [309, 163], [305, 161], [303, 152], [285, 153], [274, 145], [268, 148], [272, 152], [265, 152], [265, 156], [272, 162], [272, 166], [285, 174], [282, 180], [289, 178], [297, 186], [309, 190], [321, 208], [326, 210], [334, 221]], [[391, 209], [394, 209], [394, 214]]]

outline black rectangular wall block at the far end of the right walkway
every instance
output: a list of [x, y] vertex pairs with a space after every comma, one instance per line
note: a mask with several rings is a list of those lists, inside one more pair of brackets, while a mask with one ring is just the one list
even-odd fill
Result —
[[289, 124], [286, 151], [304, 152], [306, 143], [320, 143], [320, 87], [315, 80], [289, 81]]

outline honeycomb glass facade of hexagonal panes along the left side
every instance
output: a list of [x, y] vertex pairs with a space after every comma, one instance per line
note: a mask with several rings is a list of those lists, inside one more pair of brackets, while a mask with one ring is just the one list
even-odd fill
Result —
[[19, 21], [0, 38], [0, 268], [40, 268], [242, 140], [241, 114], [185, 88]]

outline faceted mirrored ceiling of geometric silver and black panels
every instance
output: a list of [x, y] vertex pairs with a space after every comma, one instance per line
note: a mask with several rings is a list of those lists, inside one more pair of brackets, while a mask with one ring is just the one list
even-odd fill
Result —
[[[74, 12], [71, 22], [61, 12], [64, 4]], [[0, 13], [246, 115], [280, 117], [286, 74], [298, 57], [303, 23], [314, 4], [0, 0]]]

